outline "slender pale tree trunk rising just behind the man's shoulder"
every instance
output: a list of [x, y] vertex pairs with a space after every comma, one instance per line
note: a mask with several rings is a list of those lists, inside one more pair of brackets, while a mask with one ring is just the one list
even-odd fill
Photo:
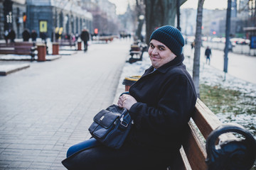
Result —
[[200, 98], [199, 91], [199, 72], [200, 72], [200, 51], [202, 43], [202, 21], [203, 21], [203, 2], [204, 0], [198, 0], [198, 11], [196, 16], [196, 40], [195, 40], [195, 52], [193, 58], [193, 82], [196, 87], [196, 94]]

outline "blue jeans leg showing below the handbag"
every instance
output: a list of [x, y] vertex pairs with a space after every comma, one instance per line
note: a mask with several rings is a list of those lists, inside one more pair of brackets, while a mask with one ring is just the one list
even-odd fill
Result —
[[97, 140], [95, 140], [95, 138], [90, 138], [89, 140], [85, 140], [84, 142], [80, 142], [80, 143], [70, 147], [67, 152], [67, 157], [70, 157], [72, 154], [75, 154], [76, 152], [78, 152], [82, 149], [96, 147], [98, 145], [101, 145], [100, 142], [97, 142]]

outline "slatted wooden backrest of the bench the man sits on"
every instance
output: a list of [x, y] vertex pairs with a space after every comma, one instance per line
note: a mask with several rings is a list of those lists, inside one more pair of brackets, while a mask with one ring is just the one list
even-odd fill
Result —
[[[196, 111], [188, 123], [188, 135], [180, 149], [181, 155], [177, 157], [171, 169], [196, 169], [206, 170], [206, 139], [210, 132], [223, 123], [198, 99]], [[225, 140], [227, 135], [223, 135]]]

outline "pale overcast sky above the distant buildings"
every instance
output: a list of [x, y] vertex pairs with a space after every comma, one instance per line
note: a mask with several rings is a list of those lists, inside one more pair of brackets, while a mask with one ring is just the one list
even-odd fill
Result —
[[[109, 0], [117, 6], [117, 14], [122, 14], [127, 9], [128, 1], [130, 4], [134, 4], [135, 0]], [[186, 1], [181, 8], [197, 8], [198, 0], [188, 0]], [[203, 8], [215, 9], [215, 8], [227, 8], [228, 0], [205, 0]]]

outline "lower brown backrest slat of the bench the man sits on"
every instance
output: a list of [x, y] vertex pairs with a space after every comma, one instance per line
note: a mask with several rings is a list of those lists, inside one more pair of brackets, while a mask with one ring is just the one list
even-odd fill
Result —
[[206, 147], [200, 137], [197, 135], [197, 130], [191, 122], [188, 123], [189, 132], [186, 141], [183, 142], [183, 148], [186, 152], [186, 157], [192, 169], [206, 170]]

